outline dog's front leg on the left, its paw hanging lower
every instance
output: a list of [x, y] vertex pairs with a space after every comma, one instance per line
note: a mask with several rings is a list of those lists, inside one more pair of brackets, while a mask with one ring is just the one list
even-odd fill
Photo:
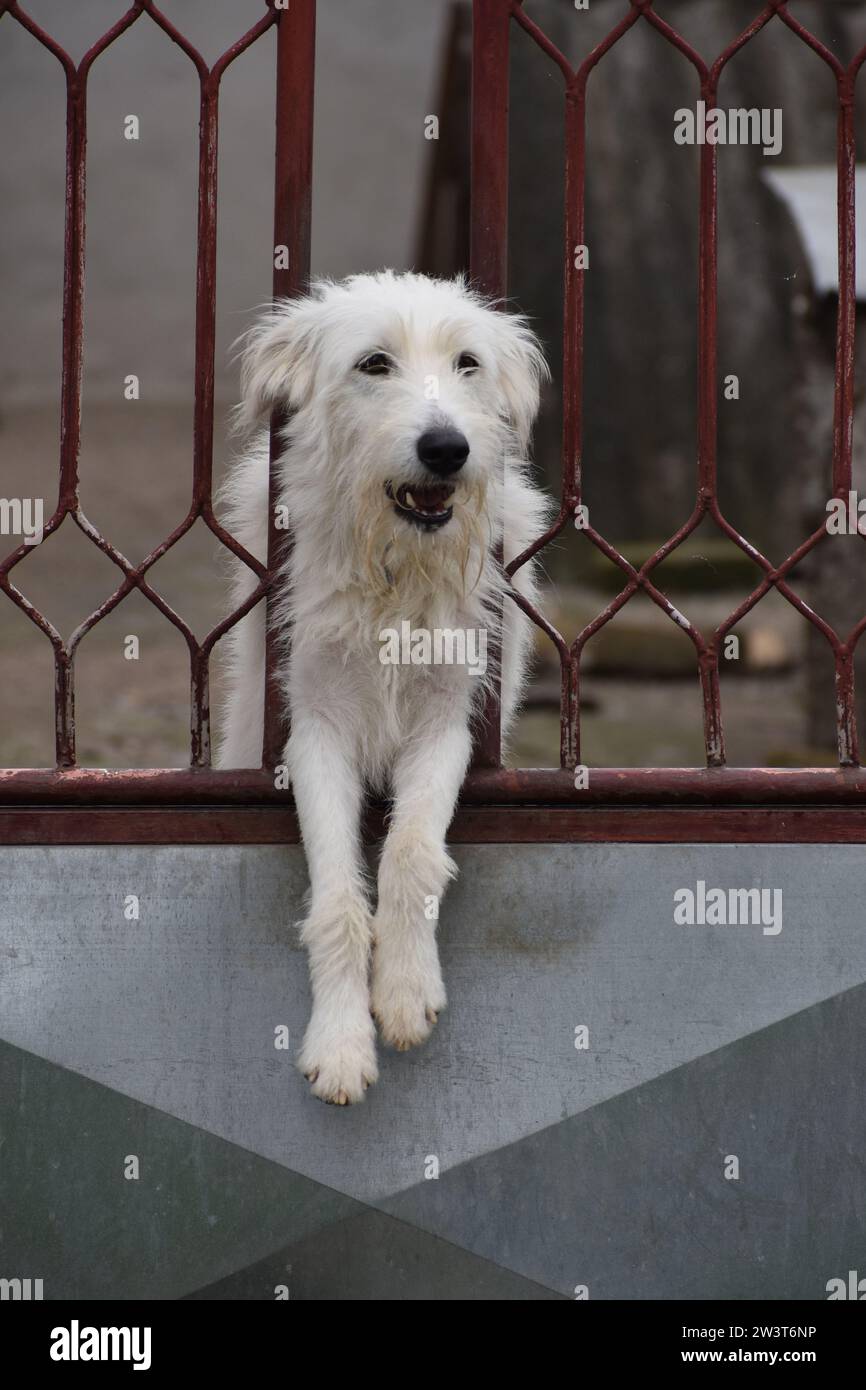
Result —
[[310, 958], [313, 1013], [299, 1066], [313, 1094], [348, 1105], [377, 1080], [370, 1017], [370, 905], [360, 848], [361, 778], [349, 737], [300, 713], [288, 763], [310, 870], [302, 940]]

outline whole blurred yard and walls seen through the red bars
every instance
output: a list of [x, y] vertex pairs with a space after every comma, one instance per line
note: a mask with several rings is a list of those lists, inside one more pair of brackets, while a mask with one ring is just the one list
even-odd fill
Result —
[[[78, 60], [124, 3], [26, 0], [25, 8]], [[163, 0], [161, 8], [213, 61], [263, 6]], [[575, 11], [571, 0], [525, 3], [574, 63], [627, 8], [626, 0], [592, 0], [588, 11]], [[712, 60], [760, 4], [657, 0], [655, 8]], [[862, 0], [792, 0], [790, 11], [844, 61], [866, 43]], [[314, 272], [466, 268], [470, 22], [467, 0], [318, 0]], [[217, 478], [231, 459], [225, 427], [238, 391], [229, 348], [271, 288], [272, 93], [270, 33], [228, 70], [221, 88]], [[673, 131], [674, 111], [696, 97], [688, 61], [644, 21], [603, 58], [588, 88], [584, 500], [594, 525], [635, 563], [694, 506], [699, 152], [677, 146]], [[735, 400], [720, 389], [720, 499], [728, 520], [778, 563], [820, 524], [831, 491], [835, 83], [774, 19], [724, 71], [719, 104], [783, 111], [777, 157], [755, 146], [719, 149], [719, 377], [735, 374], [740, 384]], [[132, 560], [189, 505], [197, 111], [192, 64], [147, 17], [92, 70], [82, 502]], [[138, 140], [124, 138], [131, 114], [139, 118]], [[430, 114], [439, 117], [438, 140], [424, 135]], [[64, 118], [58, 63], [8, 17], [0, 19], [0, 496], [42, 496], [46, 517], [57, 495]], [[510, 121], [510, 292], [532, 317], [553, 367], [535, 459], [557, 496], [563, 79], [516, 25]], [[860, 261], [866, 267], [866, 254]], [[866, 299], [866, 278], [860, 295]], [[858, 310], [858, 343], [862, 335]], [[140, 381], [132, 402], [124, 398], [129, 374]], [[865, 475], [856, 425], [862, 495]], [[4, 552], [14, 543], [0, 538]], [[217, 550], [196, 525], [149, 575], [199, 635], [224, 613]], [[865, 553], [858, 537], [827, 539], [791, 580], [845, 632], [866, 612]], [[544, 609], [573, 638], [621, 588], [621, 574], [574, 530], [544, 560]], [[702, 527], [655, 582], [709, 631], [758, 578], [742, 552]], [[117, 588], [120, 571], [67, 521], [14, 580], [70, 632]], [[826, 641], [774, 592], [735, 631], [740, 659], [723, 662], [721, 673], [728, 760], [834, 762]], [[140, 642], [138, 662], [124, 657], [129, 634]], [[49, 766], [50, 646], [6, 598], [0, 663], [0, 766]], [[556, 653], [539, 637], [510, 758], [518, 766], [557, 762], [557, 673]], [[866, 688], [866, 673], [859, 687]], [[83, 641], [76, 692], [82, 763], [188, 762], [186, 645], [139, 595]], [[595, 766], [703, 762], [692, 644], [646, 598], [630, 600], [585, 649], [582, 734], [582, 760]]]

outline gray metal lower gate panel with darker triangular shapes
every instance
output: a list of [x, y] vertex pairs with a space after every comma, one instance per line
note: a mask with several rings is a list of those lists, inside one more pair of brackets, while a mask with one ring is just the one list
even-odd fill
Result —
[[[288, 1262], [300, 1297], [822, 1298], [858, 1268], [860, 847], [456, 856], [449, 1008], [342, 1111], [274, 1048], [309, 1009], [300, 849], [1, 851], [1, 1272], [46, 1297], [264, 1298]], [[781, 931], [677, 926], [698, 880], [780, 890]]]

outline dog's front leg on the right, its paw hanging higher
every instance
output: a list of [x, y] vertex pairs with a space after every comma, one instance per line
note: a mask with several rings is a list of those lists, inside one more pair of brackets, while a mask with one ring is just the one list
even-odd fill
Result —
[[407, 742], [393, 770], [373, 923], [371, 1006], [384, 1040], [400, 1051], [430, 1036], [446, 1004], [436, 917], [456, 873], [445, 834], [470, 752], [467, 723], [455, 719], [452, 706]]

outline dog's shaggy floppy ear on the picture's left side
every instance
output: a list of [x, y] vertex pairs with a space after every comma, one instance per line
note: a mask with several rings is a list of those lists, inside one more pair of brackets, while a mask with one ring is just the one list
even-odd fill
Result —
[[275, 406], [299, 409], [316, 377], [321, 300], [277, 300], [239, 339], [240, 404], [235, 425], [250, 430]]

